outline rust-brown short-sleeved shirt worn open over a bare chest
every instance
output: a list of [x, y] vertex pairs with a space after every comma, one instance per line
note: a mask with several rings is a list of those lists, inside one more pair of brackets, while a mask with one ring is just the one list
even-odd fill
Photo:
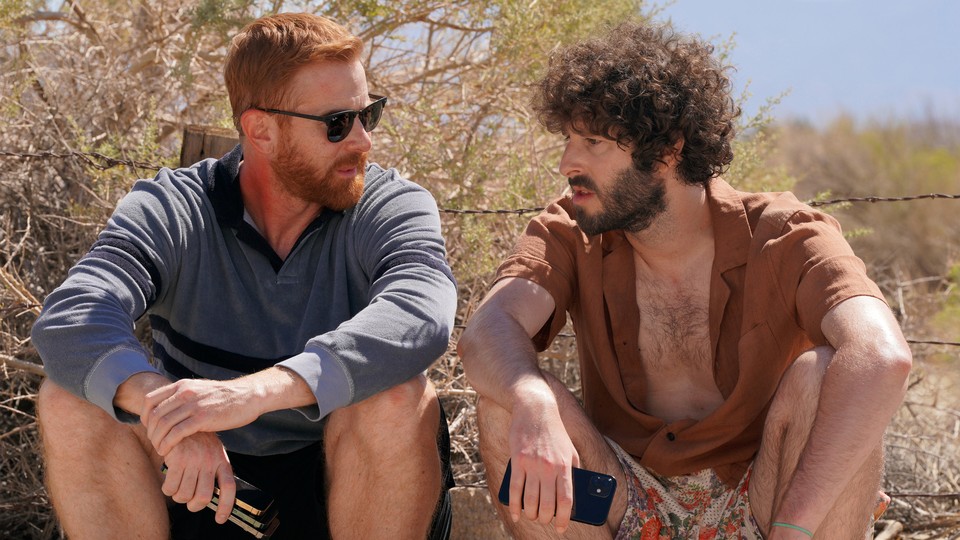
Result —
[[584, 407], [601, 433], [661, 475], [713, 468], [735, 485], [760, 446], [781, 375], [801, 352], [827, 344], [824, 315], [854, 296], [883, 296], [832, 217], [792, 194], [739, 192], [721, 179], [707, 194], [716, 243], [710, 340], [725, 401], [703, 420], [666, 423], [633, 405], [646, 388], [633, 251], [622, 232], [587, 237], [560, 199], [530, 222], [497, 279], [525, 278], [553, 296], [538, 350], [570, 314]]

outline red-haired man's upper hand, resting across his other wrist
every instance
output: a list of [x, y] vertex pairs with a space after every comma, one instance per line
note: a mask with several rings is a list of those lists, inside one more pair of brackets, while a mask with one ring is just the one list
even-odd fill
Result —
[[[181, 379], [144, 398], [140, 422], [161, 456], [167, 456], [187, 437], [245, 426], [264, 411], [262, 400], [243, 379], [210, 381]], [[231, 477], [232, 480], [232, 477]]]

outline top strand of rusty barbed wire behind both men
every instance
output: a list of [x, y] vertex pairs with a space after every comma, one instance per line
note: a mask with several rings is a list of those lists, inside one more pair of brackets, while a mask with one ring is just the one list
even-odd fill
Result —
[[[162, 165], [136, 161], [129, 159], [113, 158], [99, 152], [8, 152], [0, 150], [0, 158], [19, 158], [19, 159], [78, 159], [99, 170], [112, 169], [114, 167], [134, 167], [139, 169], [160, 170]], [[806, 204], [810, 206], [830, 206], [835, 204], [848, 203], [878, 203], [878, 202], [907, 202], [922, 199], [960, 199], [960, 193], [924, 193], [916, 195], [903, 195], [899, 197], [882, 197], [877, 195], [868, 195], [860, 197], [838, 197], [828, 200], [808, 200]], [[444, 214], [452, 215], [517, 215], [536, 214], [542, 212], [546, 207], [534, 206], [528, 208], [496, 208], [496, 209], [474, 209], [474, 208], [444, 208], [439, 207], [439, 211]]]

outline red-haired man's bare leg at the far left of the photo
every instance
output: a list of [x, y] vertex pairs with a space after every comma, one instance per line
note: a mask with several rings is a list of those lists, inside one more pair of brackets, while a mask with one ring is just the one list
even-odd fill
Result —
[[49, 379], [38, 396], [47, 492], [71, 540], [166, 539], [160, 457], [121, 424]]

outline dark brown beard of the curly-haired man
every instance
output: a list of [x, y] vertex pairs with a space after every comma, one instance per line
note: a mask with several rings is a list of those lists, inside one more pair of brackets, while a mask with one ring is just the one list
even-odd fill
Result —
[[577, 225], [589, 236], [614, 230], [640, 232], [667, 209], [664, 181], [635, 167], [620, 171], [609, 191], [598, 191], [588, 176], [575, 176], [570, 185], [589, 189], [600, 202], [600, 212], [593, 215], [576, 207]]

